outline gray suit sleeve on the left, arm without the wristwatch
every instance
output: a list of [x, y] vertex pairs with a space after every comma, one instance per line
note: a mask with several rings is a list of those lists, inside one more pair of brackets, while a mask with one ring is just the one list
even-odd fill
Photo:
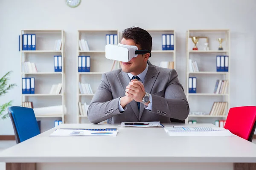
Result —
[[[118, 109], [120, 98], [121, 96], [113, 99], [107, 75], [105, 73], [102, 74], [102, 80], [99, 84], [98, 90], [93, 96], [87, 111], [89, 121], [97, 124], [115, 115], [121, 114], [122, 112]], [[125, 107], [124, 110], [126, 110], [126, 108], [127, 107]]]

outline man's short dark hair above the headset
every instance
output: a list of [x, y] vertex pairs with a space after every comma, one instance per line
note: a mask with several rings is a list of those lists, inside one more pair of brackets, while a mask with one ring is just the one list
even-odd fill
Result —
[[126, 28], [124, 31], [122, 31], [122, 38], [125, 38], [126, 40], [134, 40], [135, 44], [140, 45], [141, 50], [148, 50], [150, 52], [152, 50], [152, 37], [148, 31], [142, 28]]

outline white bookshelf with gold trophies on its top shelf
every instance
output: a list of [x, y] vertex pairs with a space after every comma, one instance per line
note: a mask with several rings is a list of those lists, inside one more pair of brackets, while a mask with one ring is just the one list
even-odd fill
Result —
[[[199, 37], [198, 50], [192, 50], [194, 43], [191, 37]], [[218, 38], [224, 39], [222, 42], [223, 50], [218, 50]], [[208, 50], [205, 49], [206, 42], [209, 45]], [[216, 70], [216, 56], [228, 56], [228, 71]], [[230, 108], [230, 57], [229, 29], [188, 30], [186, 32], [186, 97], [190, 107], [186, 123], [195, 120], [198, 123], [214, 124], [216, 120], [227, 118], [228, 109]], [[191, 61], [189, 59], [198, 63], [198, 72], [191, 71]], [[196, 77], [196, 93], [189, 93], [189, 77]], [[214, 93], [218, 79], [228, 81], [226, 93]], [[222, 102], [222, 110], [220, 104], [215, 114], [209, 114], [214, 102]], [[224, 102], [227, 102], [226, 107]]]

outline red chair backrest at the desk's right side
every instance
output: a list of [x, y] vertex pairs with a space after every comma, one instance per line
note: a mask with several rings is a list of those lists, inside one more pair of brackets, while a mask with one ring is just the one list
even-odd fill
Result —
[[256, 106], [242, 106], [230, 108], [224, 128], [231, 133], [246, 139], [253, 140], [256, 127]]

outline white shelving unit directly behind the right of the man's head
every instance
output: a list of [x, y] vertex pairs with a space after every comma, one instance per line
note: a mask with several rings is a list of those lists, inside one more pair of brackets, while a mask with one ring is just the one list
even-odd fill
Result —
[[[152, 37], [151, 57], [148, 59], [153, 65], [160, 66], [161, 61], [174, 62], [176, 69], [176, 35], [174, 30], [147, 30]], [[174, 34], [174, 50], [162, 50], [162, 34]]]

